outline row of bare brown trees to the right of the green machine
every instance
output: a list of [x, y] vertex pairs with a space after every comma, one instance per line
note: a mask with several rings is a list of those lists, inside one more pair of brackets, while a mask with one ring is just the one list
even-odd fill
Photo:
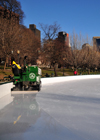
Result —
[[[100, 68], [100, 53], [93, 46], [85, 46], [84, 43], [90, 43], [89, 37], [86, 39], [75, 32], [70, 36], [71, 47], [65, 46], [62, 40], [58, 40], [55, 36], [58, 34], [59, 25], [54, 23], [51, 25], [40, 24], [44, 32], [42, 54], [44, 63], [54, 67], [55, 76], [56, 65], [90, 69]], [[54, 37], [54, 38], [53, 38]]]

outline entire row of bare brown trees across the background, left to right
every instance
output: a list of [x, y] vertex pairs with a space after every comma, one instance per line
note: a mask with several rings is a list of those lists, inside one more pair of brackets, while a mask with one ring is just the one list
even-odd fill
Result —
[[[22, 23], [24, 13], [17, 0], [0, 0], [0, 5], [19, 14], [19, 20]], [[81, 34], [77, 35], [73, 32], [70, 36], [71, 47], [69, 47], [64, 41], [57, 39], [61, 28], [56, 22], [52, 25], [40, 24], [40, 27], [44, 33], [42, 45], [34, 33], [22, 24], [16, 24], [12, 18], [10, 20], [0, 18], [0, 57], [5, 58], [5, 67], [11, 55], [14, 55], [17, 60], [17, 50], [20, 50], [20, 59], [28, 55], [29, 62], [33, 64], [36, 63], [40, 54], [43, 64], [54, 67], [55, 76], [57, 64], [89, 70], [100, 67], [99, 52], [89, 46], [82, 48], [84, 43], [90, 43], [88, 36], [84, 39]]]

